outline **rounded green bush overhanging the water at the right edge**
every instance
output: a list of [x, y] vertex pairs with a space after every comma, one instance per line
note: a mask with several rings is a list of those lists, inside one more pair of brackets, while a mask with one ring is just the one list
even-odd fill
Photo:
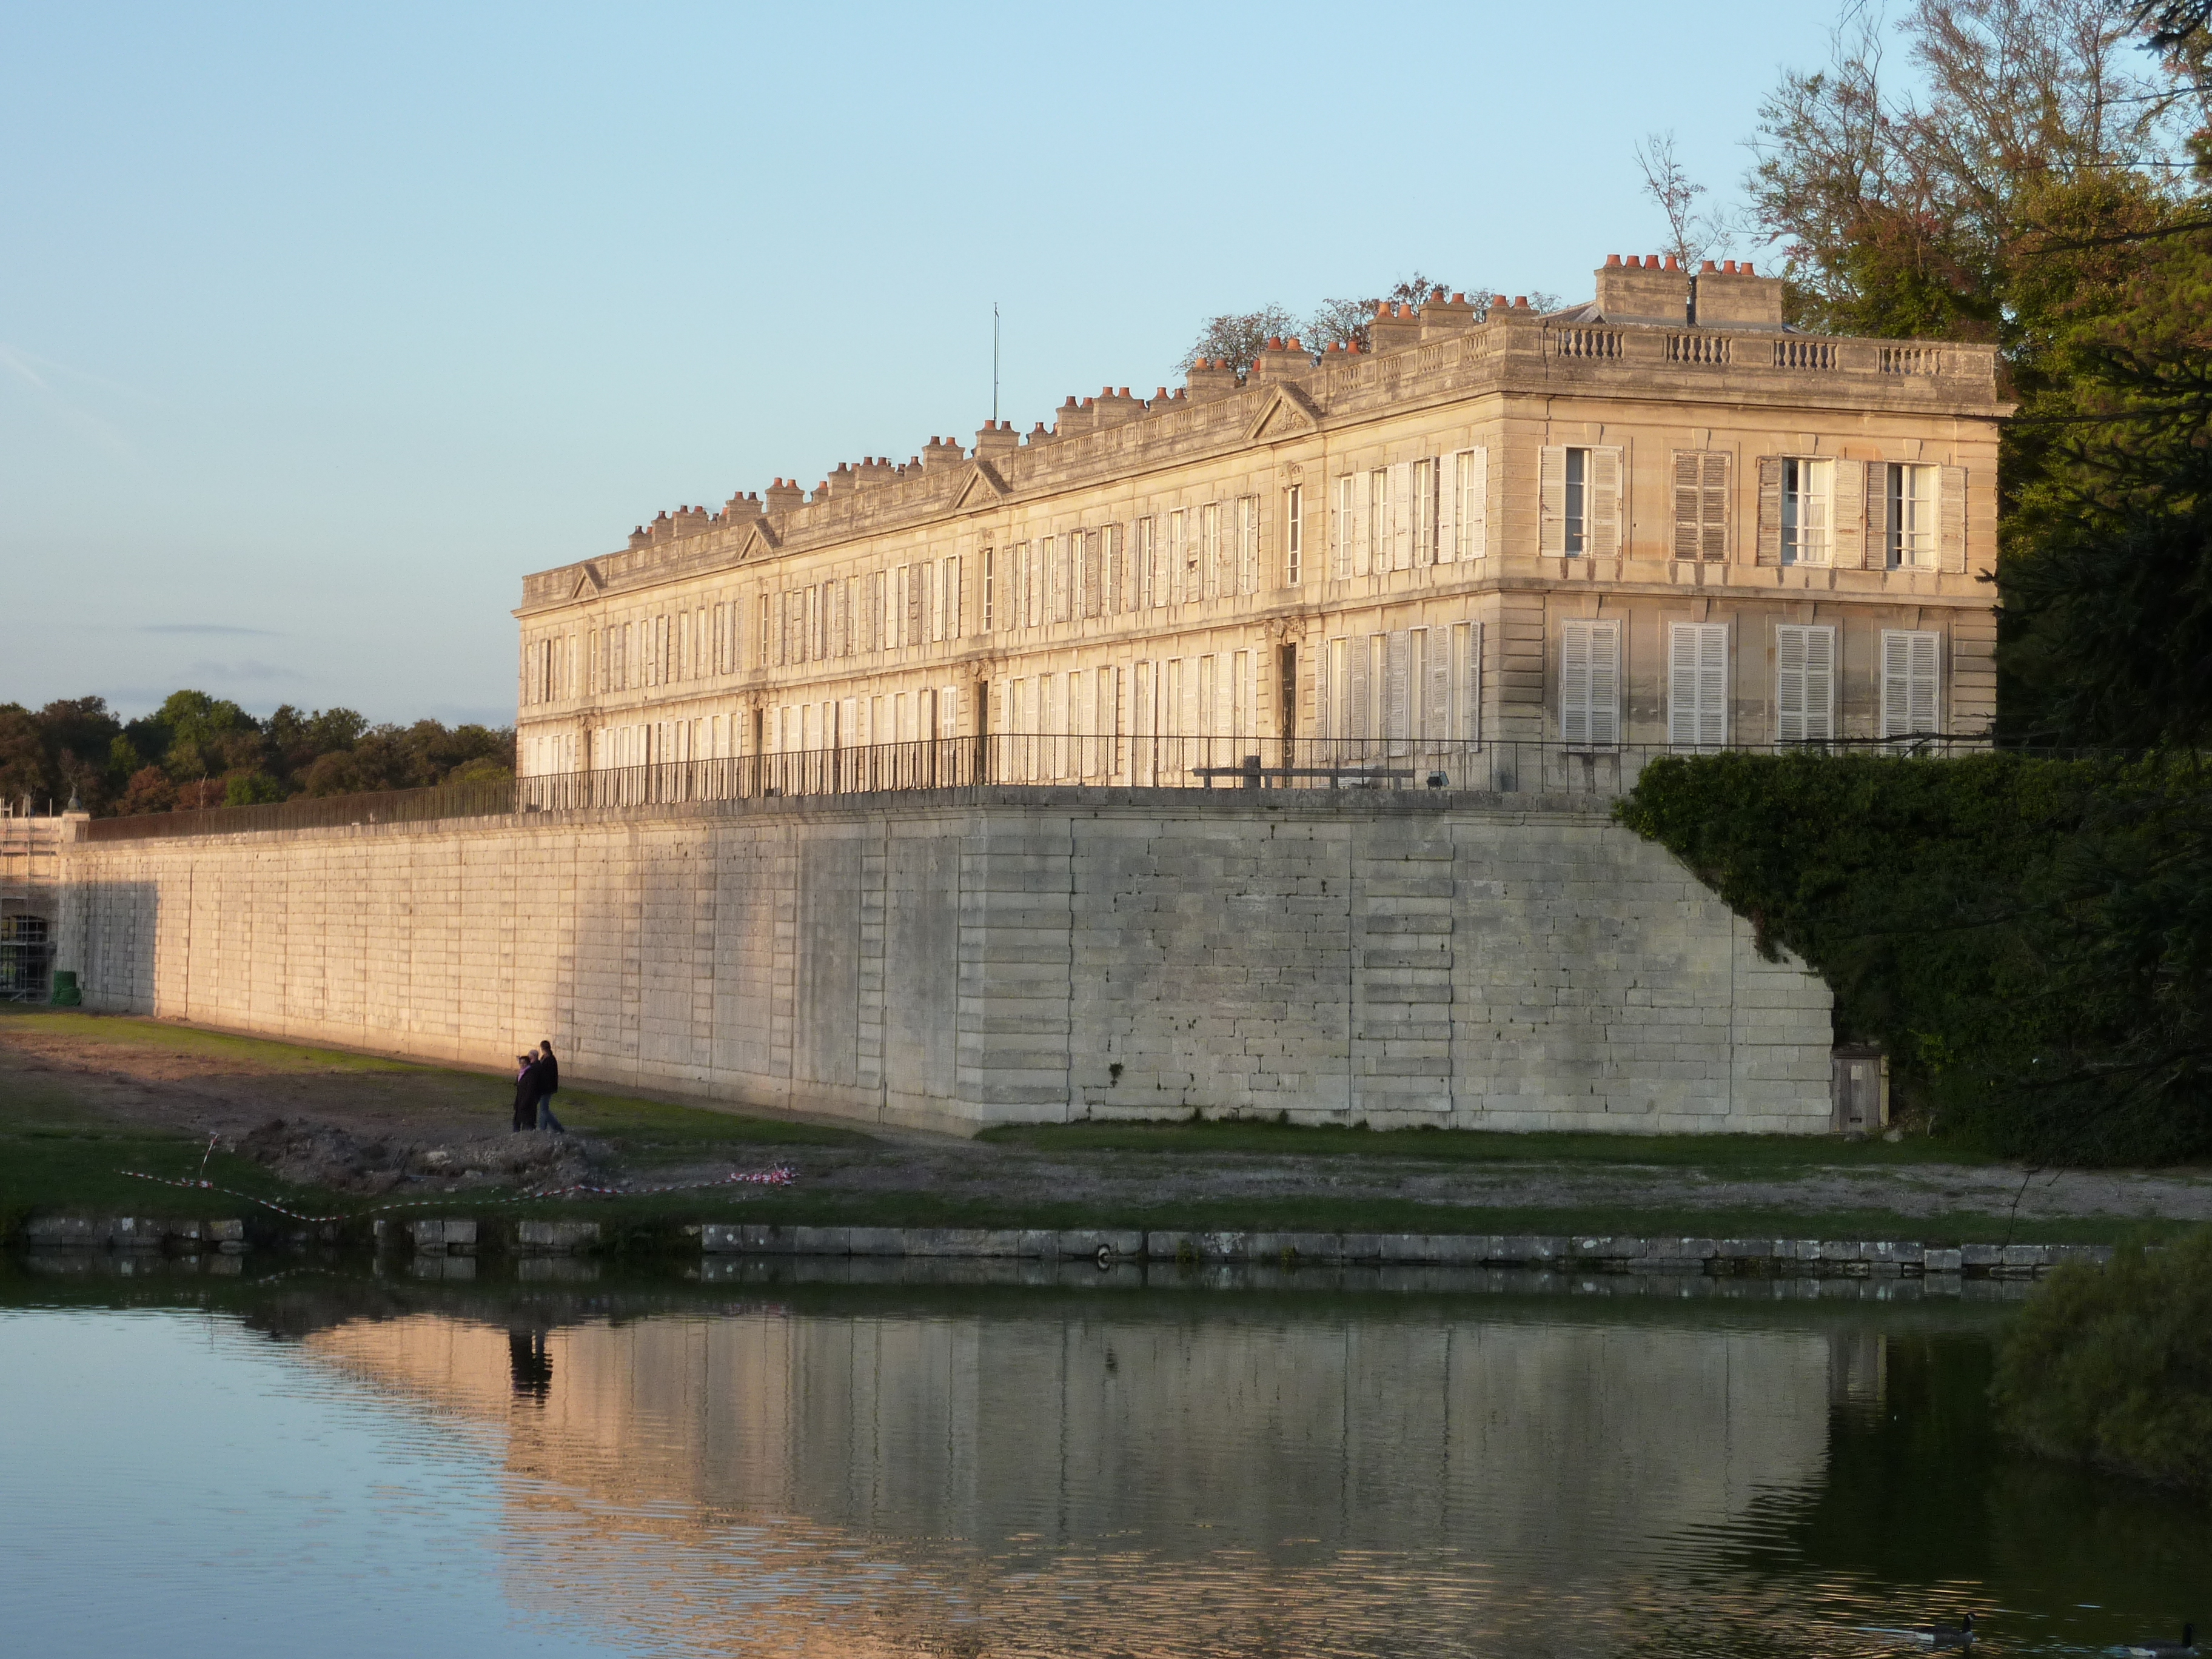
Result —
[[2046, 1455], [2212, 1495], [2212, 1230], [2055, 1272], [2013, 1325], [1991, 1396]]

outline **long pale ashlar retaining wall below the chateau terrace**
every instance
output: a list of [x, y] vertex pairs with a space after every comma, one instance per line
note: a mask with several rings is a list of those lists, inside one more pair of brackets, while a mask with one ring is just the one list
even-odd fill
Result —
[[64, 852], [97, 1009], [973, 1130], [1823, 1130], [1829, 991], [1590, 807], [962, 790]]

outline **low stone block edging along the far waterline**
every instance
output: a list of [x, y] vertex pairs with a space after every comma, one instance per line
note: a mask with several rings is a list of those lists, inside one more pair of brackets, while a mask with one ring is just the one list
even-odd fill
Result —
[[[500, 1230], [493, 1230], [500, 1228]], [[708, 1221], [684, 1228], [708, 1256], [911, 1256], [938, 1261], [1157, 1261], [1314, 1267], [1573, 1267], [1577, 1272], [1699, 1272], [1918, 1279], [1966, 1274], [2035, 1279], [2059, 1263], [2104, 1263], [2112, 1245], [1958, 1245], [1907, 1239], [1617, 1239], [1595, 1234], [1486, 1232], [1172, 1232], [1135, 1228], [803, 1228]], [[305, 1234], [294, 1234], [305, 1243]], [[150, 1221], [133, 1217], [35, 1217], [33, 1250], [246, 1250], [241, 1221]], [[380, 1248], [414, 1254], [476, 1254], [480, 1243], [522, 1254], [582, 1254], [602, 1243], [597, 1221], [507, 1221], [420, 1217], [378, 1221]]]

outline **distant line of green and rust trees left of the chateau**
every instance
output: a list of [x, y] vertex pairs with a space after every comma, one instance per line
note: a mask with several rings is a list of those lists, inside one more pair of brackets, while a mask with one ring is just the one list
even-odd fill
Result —
[[0, 703], [0, 799], [44, 812], [71, 796], [102, 816], [239, 807], [294, 796], [495, 783], [515, 774], [511, 726], [369, 726], [352, 708], [285, 703], [254, 719], [197, 690], [122, 721], [104, 697], [38, 712]]

